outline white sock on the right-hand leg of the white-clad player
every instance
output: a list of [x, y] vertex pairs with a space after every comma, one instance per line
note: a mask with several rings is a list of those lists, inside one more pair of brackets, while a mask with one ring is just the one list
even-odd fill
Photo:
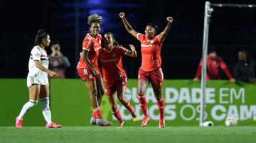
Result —
[[51, 121], [49, 98], [46, 97], [46, 98], [41, 99], [41, 103], [42, 103], [43, 117], [45, 118], [47, 124], [50, 124], [52, 121]]

